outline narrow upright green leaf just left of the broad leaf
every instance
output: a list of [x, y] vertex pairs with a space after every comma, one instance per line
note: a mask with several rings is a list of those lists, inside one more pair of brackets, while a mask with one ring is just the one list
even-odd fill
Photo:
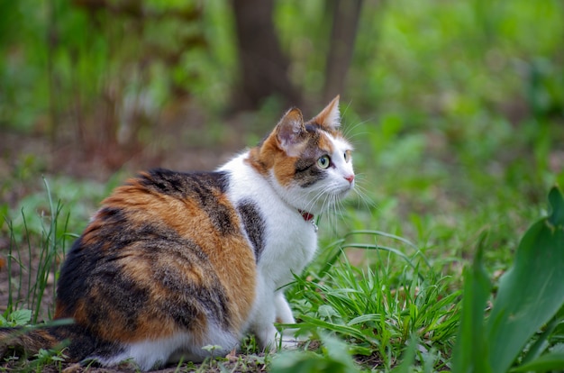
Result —
[[460, 316], [459, 335], [452, 357], [454, 372], [490, 372], [487, 364], [487, 340], [484, 335], [484, 313], [491, 283], [482, 265], [483, 233], [478, 242], [478, 252], [470, 268], [464, 270], [464, 296]]

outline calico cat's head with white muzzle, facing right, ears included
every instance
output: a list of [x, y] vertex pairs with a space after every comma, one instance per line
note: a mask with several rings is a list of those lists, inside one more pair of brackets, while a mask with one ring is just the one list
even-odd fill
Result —
[[319, 214], [354, 187], [352, 146], [340, 125], [339, 96], [307, 122], [299, 109], [290, 109], [250, 151], [250, 163], [289, 205]]

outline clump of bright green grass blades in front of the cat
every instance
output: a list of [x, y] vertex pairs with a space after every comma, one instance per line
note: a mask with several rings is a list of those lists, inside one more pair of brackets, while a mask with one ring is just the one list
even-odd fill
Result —
[[[418, 346], [420, 363], [447, 368], [459, 322], [460, 292], [451, 290], [452, 277], [435, 272], [420, 250], [409, 257], [402, 250], [354, 240], [359, 237], [391, 238], [414, 248], [392, 234], [350, 232], [333, 244], [336, 252], [327, 250], [328, 260], [318, 260], [321, 270], [296, 277], [288, 292], [301, 314], [294, 326], [322, 340], [319, 331], [339, 336], [365, 368], [395, 367], [410, 341]], [[350, 248], [374, 250], [378, 264], [351, 265]]]

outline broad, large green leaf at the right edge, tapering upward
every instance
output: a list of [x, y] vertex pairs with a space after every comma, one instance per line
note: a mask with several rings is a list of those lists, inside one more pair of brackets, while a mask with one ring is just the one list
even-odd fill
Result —
[[495, 372], [505, 372], [564, 304], [564, 198], [558, 187], [550, 190], [549, 202], [550, 216], [525, 233], [514, 266], [501, 278], [486, 324]]

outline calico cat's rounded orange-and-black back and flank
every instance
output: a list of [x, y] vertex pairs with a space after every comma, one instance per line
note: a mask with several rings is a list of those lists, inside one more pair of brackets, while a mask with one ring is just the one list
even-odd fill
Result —
[[229, 182], [155, 169], [118, 187], [68, 253], [56, 317], [104, 341], [239, 338], [256, 264]]

